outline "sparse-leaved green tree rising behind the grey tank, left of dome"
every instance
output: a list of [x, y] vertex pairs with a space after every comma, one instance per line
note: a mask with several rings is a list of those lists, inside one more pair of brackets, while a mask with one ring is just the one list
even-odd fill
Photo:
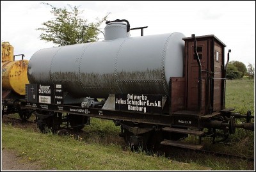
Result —
[[[102, 19], [97, 18], [97, 22], [88, 23], [88, 20], [79, 17], [83, 11], [79, 6], [70, 6], [70, 9], [56, 8], [49, 3], [42, 3], [51, 6], [51, 13], [54, 19], [44, 22], [45, 27], [37, 28], [42, 31], [39, 38], [47, 42], [53, 42], [62, 45], [72, 45], [76, 43], [95, 42], [99, 40], [99, 27], [102, 22], [106, 21], [109, 13]], [[86, 27], [89, 26], [89, 27]]]

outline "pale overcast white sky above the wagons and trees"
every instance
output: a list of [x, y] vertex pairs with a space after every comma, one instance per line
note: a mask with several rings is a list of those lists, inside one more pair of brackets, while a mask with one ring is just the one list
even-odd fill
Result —
[[[89, 22], [111, 13], [108, 20], [127, 19], [131, 28], [148, 26], [144, 35], [215, 35], [227, 45], [225, 60], [232, 49], [230, 60], [255, 66], [255, 1], [1, 1], [1, 42], [10, 42], [14, 54], [25, 54], [25, 59], [56, 46], [38, 38], [36, 28], [53, 18], [51, 7], [40, 2], [80, 6]], [[140, 36], [140, 31], [131, 31], [131, 36]]]

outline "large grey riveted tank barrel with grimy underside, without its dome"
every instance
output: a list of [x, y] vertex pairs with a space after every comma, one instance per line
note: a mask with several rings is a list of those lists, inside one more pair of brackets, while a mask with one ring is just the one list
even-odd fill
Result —
[[170, 77], [183, 76], [183, 37], [168, 33], [42, 49], [29, 61], [28, 79], [63, 84], [74, 97], [168, 95]]

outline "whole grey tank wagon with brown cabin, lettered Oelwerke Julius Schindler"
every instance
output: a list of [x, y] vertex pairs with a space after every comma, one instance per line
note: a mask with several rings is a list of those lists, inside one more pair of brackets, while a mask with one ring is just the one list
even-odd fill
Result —
[[[102, 42], [42, 49], [31, 57], [22, 108], [37, 109], [41, 130], [63, 123], [83, 129], [92, 116], [120, 125], [133, 147], [193, 149], [202, 148], [204, 136], [254, 130], [250, 111], [225, 109], [226, 45], [216, 36], [143, 36], [145, 27], [138, 27], [141, 36], [130, 37], [127, 20], [106, 24]], [[199, 144], [177, 141], [188, 134], [199, 136]]]

